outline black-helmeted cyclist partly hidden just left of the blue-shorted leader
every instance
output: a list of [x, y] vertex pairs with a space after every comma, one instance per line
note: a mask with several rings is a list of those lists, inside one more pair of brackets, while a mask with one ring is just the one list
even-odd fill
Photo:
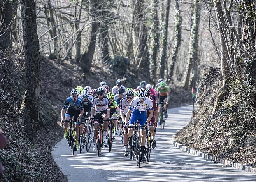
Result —
[[[126, 91], [125, 93], [126, 95], [126, 98], [122, 98], [120, 100], [120, 103], [119, 103], [119, 107], [120, 107], [120, 115], [121, 115], [121, 118], [123, 120], [123, 122], [125, 122], [125, 117], [126, 117], [126, 113], [129, 109], [129, 106], [130, 106], [130, 103], [133, 99], [133, 91], [131, 90], [128, 90]], [[127, 135], [127, 132], [128, 132], [128, 129], [127, 129], [127, 124], [124, 125], [124, 128], [123, 128], [123, 141], [124, 141], [124, 148], [125, 148], [125, 152], [124, 152], [124, 156], [128, 156], [128, 135]]]

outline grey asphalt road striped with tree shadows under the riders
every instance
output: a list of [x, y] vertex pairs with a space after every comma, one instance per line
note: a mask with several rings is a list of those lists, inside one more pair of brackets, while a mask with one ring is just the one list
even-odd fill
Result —
[[113, 143], [112, 151], [102, 150], [70, 155], [67, 141], [62, 139], [52, 151], [56, 163], [70, 182], [81, 181], [251, 181], [256, 175], [204, 158], [190, 155], [170, 144], [172, 135], [186, 124], [192, 115], [192, 105], [168, 110], [165, 129], [157, 128], [156, 148], [151, 150], [150, 162], [136, 166], [136, 161], [124, 157], [120, 137]]

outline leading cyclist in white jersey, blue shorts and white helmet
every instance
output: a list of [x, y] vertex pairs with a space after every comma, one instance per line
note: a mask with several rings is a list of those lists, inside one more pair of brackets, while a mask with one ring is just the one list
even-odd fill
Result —
[[[134, 108], [134, 109], [133, 109]], [[149, 117], [147, 118], [147, 109], [149, 109]], [[147, 98], [147, 91], [145, 89], [140, 89], [137, 93], [137, 97], [134, 98], [129, 106], [129, 110], [126, 113], [125, 117], [125, 123], [129, 123], [129, 126], [134, 126], [137, 123], [137, 120], [139, 120], [140, 125], [145, 125], [149, 123], [153, 116], [153, 104], [152, 100], [150, 98]], [[131, 118], [130, 118], [131, 116]], [[130, 118], [130, 121], [129, 121]], [[128, 147], [131, 148], [132, 146], [132, 134], [133, 134], [134, 128], [128, 129]], [[140, 129], [139, 133], [141, 140], [141, 160], [145, 161], [146, 158], [144, 156], [145, 153], [145, 144], [146, 144], [146, 129]]]

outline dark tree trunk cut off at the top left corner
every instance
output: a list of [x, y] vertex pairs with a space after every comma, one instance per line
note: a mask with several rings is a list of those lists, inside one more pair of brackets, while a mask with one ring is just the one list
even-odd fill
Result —
[[12, 45], [11, 39], [12, 7], [10, 2], [0, 3], [0, 49]]

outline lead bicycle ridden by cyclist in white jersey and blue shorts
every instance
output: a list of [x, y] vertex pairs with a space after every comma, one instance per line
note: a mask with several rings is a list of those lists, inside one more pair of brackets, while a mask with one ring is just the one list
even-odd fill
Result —
[[140, 125], [139, 124], [139, 120], [137, 120], [137, 123], [135, 126], [128, 126], [129, 128], [134, 128], [134, 132], [133, 132], [133, 145], [132, 145], [132, 151], [133, 151], [133, 155], [135, 155], [136, 158], [136, 163], [137, 166], [140, 167], [140, 163], [141, 163], [141, 146], [140, 146], [140, 142], [139, 142], [139, 136], [138, 136], [138, 131], [140, 127], [145, 127], [145, 125]]

